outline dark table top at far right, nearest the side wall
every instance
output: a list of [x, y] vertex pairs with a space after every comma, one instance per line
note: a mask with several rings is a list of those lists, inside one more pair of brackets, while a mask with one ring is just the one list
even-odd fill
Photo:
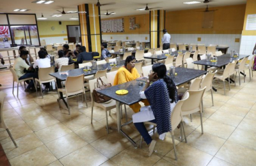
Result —
[[239, 55], [239, 57], [230, 57], [230, 54], [225, 54], [223, 56], [218, 56], [217, 62], [207, 62], [206, 59], [200, 60], [200, 61], [194, 61], [194, 64], [201, 64], [201, 65], [207, 65], [207, 66], [215, 66], [215, 67], [221, 67], [225, 66], [228, 63], [231, 63], [234, 60], [243, 59], [244, 57], [248, 57], [249, 55]]

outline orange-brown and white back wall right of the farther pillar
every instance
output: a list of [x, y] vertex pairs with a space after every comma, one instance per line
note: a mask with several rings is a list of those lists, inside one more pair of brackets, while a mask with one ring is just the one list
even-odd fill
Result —
[[[214, 11], [213, 27], [202, 28], [205, 8], [166, 11], [166, 29], [173, 43], [205, 43], [228, 45], [239, 50], [246, 4], [209, 8]], [[198, 41], [200, 38], [201, 41]]]

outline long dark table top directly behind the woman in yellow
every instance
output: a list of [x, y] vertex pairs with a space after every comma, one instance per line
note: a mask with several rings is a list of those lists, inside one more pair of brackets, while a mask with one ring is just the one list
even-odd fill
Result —
[[[120, 64], [117, 64], [116, 67], [119, 66], [123, 66], [125, 63], [125, 61], [121, 61]], [[67, 77], [69, 76], [78, 76], [83, 74], [84, 76], [86, 75], [93, 75], [95, 73], [97, 73], [98, 70], [106, 70], [106, 68], [108, 68], [108, 71], [111, 70], [111, 68], [113, 66], [110, 66], [111, 63], [106, 63], [106, 64], [99, 64], [97, 65], [97, 70], [91, 70], [91, 71], [84, 71], [84, 68], [76, 68], [73, 70], [68, 70], [67, 73], [68, 75], [64, 74], [60, 74], [60, 72], [56, 72], [56, 73], [50, 73], [49, 75], [51, 75], [52, 77], [55, 77], [56, 79], [60, 79], [60, 80], [66, 80]]]

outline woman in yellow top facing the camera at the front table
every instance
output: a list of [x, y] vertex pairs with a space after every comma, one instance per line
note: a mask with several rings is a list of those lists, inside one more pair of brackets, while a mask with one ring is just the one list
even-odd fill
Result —
[[[134, 56], [127, 56], [127, 58], [125, 59], [124, 67], [120, 68], [116, 73], [114, 86], [118, 84], [124, 84], [125, 82], [129, 82], [140, 77], [140, 74], [138, 73], [136, 68], [134, 68], [135, 61], [136, 59]], [[146, 106], [149, 105], [147, 100], [142, 100], [141, 102], [143, 102]], [[131, 107], [131, 109], [136, 113], [140, 112], [141, 105], [140, 103], [134, 103], [133, 105], [129, 105], [129, 107]]]

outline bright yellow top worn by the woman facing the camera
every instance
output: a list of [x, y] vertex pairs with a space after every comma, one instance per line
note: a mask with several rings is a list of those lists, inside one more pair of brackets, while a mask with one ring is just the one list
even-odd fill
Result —
[[118, 69], [116, 73], [116, 77], [114, 80], [114, 86], [118, 84], [124, 84], [125, 82], [129, 82], [131, 80], [135, 80], [140, 77], [140, 74], [136, 70], [136, 68], [132, 68], [131, 72], [129, 72], [125, 66]]

